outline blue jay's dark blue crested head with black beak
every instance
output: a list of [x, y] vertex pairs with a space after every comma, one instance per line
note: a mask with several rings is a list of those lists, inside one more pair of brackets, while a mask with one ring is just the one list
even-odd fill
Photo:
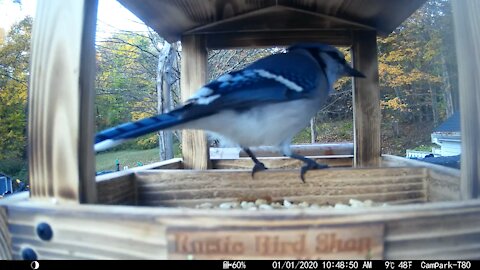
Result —
[[365, 78], [360, 71], [352, 68], [345, 56], [335, 47], [321, 43], [300, 43], [288, 48], [288, 51], [304, 50], [308, 52], [319, 65], [335, 77], [353, 76]]

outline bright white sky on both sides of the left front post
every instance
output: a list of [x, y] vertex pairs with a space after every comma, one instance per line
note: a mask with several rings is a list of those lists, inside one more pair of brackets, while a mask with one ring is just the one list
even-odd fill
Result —
[[[48, 0], [43, 0], [48, 1]], [[71, 1], [71, 0], [67, 0]], [[12, 24], [29, 15], [35, 18], [37, 0], [0, 0], [0, 27], [6, 32]], [[97, 39], [109, 36], [118, 30], [146, 31], [145, 24], [116, 0], [98, 0]]]

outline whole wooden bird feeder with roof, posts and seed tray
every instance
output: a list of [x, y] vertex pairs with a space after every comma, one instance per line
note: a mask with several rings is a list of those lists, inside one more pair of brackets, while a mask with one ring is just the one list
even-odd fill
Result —
[[[480, 259], [477, 1], [453, 3], [461, 30], [461, 170], [381, 155], [376, 38], [425, 0], [119, 2], [168, 41], [181, 40], [184, 97], [206, 82], [209, 49], [307, 41], [350, 46], [354, 67], [366, 75], [353, 84], [353, 151], [311, 153], [334, 168], [308, 172], [306, 184], [299, 164], [280, 157], [265, 158], [278, 169], [252, 180], [249, 160], [210, 161], [204, 133], [187, 131], [183, 159], [95, 177], [97, 2], [39, 0], [29, 89], [31, 191], [0, 201], [0, 259]], [[194, 207], [255, 199], [388, 205]]]

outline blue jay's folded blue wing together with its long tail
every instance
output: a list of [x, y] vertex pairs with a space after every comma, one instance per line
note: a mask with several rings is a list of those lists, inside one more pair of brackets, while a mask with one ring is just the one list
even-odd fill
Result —
[[206, 84], [185, 105], [171, 112], [98, 133], [95, 150], [104, 150], [125, 139], [157, 130], [188, 124], [223, 110], [243, 111], [267, 103], [311, 98], [321, 78], [325, 78], [321, 72], [312, 57], [301, 53], [276, 54], [260, 59], [245, 69], [224, 74]]

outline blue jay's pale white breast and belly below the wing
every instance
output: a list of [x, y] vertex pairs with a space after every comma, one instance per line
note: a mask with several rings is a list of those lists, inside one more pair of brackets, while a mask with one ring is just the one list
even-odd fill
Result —
[[275, 146], [289, 143], [320, 106], [319, 100], [312, 99], [266, 104], [245, 111], [225, 110], [185, 128], [217, 132], [244, 147]]

